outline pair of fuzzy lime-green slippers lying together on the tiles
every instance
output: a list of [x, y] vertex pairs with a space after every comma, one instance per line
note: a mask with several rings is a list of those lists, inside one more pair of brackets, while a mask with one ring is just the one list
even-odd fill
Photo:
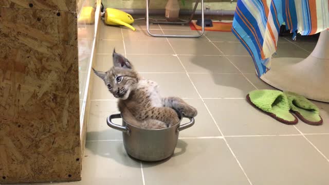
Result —
[[321, 125], [323, 122], [319, 108], [296, 93], [279, 90], [253, 90], [246, 98], [255, 108], [285, 124], [297, 124], [297, 117], [310, 125]]

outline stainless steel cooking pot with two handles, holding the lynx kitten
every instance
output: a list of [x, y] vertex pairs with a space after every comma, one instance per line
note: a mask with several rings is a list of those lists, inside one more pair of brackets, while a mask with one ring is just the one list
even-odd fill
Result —
[[[122, 132], [124, 149], [131, 157], [142, 161], [160, 161], [169, 158], [177, 145], [179, 131], [194, 124], [194, 118], [189, 123], [180, 125], [184, 116], [179, 114], [178, 124], [161, 129], [139, 128], [127, 123], [121, 114], [107, 118], [107, 125]], [[113, 119], [122, 118], [122, 126], [114, 124]]]

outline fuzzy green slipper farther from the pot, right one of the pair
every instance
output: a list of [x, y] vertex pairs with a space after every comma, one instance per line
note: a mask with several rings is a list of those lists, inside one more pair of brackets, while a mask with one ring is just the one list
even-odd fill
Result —
[[289, 102], [290, 109], [303, 122], [310, 125], [321, 125], [323, 120], [319, 108], [305, 97], [289, 91], [283, 92]]

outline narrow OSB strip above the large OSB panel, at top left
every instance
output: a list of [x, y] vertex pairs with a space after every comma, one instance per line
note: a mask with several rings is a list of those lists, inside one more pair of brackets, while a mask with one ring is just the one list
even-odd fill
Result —
[[77, 0], [1, 0], [0, 7], [77, 11]]

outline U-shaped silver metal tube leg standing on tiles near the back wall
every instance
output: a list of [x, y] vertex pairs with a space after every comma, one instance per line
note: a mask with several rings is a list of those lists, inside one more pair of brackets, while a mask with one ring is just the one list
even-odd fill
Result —
[[[193, 15], [195, 13], [196, 7], [198, 5], [199, 0], [196, 0], [196, 4], [194, 6], [193, 12], [191, 14], [190, 20], [187, 22], [191, 22]], [[166, 37], [166, 38], [199, 38], [200, 36], [204, 35], [205, 33], [205, 16], [204, 16], [204, 0], [201, 0], [201, 16], [202, 16], [202, 32], [198, 35], [169, 35], [169, 34], [152, 34], [150, 32], [150, 19], [149, 19], [149, 0], [146, 0], [146, 28], [148, 33], [151, 36], [155, 37]], [[157, 22], [158, 24], [161, 24], [162, 22]], [[166, 22], [165, 24], [172, 24], [172, 22]], [[181, 24], [180, 23], [175, 23], [175, 24]]]

